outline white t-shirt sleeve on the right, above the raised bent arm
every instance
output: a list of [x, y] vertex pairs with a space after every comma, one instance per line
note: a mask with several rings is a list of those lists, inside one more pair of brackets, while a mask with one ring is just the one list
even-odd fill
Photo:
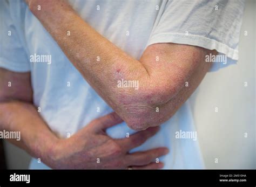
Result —
[[235, 64], [244, 4], [243, 0], [167, 1], [147, 46], [177, 43], [217, 50], [227, 62], [213, 63], [211, 71]]

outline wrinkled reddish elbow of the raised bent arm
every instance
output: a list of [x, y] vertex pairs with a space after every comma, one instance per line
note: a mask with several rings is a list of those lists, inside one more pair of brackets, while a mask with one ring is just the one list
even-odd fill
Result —
[[137, 94], [123, 95], [120, 104], [123, 106], [124, 112], [120, 116], [133, 130], [145, 130], [149, 127], [159, 126], [170, 119], [170, 111], [165, 104], [172, 98], [175, 91], [170, 86], [154, 86], [139, 89]]

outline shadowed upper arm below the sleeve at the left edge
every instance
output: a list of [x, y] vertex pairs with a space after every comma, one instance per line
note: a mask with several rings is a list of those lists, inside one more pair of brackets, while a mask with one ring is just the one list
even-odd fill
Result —
[[0, 68], [0, 102], [21, 100], [33, 102], [30, 73], [16, 73]]

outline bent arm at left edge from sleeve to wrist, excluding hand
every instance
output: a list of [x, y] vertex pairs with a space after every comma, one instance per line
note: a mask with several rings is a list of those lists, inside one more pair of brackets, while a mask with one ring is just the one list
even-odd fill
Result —
[[15, 73], [0, 68], [0, 130], [21, 132], [21, 140], [6, 140], [45, 163], [50, 159], [57, 137], [32, 103], [30, 73]]

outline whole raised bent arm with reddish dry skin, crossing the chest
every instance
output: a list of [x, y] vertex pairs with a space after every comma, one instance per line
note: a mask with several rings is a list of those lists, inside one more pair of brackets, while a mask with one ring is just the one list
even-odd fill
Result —
[[[38, 4], [42, 5], [41, 11], [36, 9]], [[86, 81], [136, 130], [170, 119], [210, 68], [205, 55], [216, 53], [163, 43], [150, 45], [136, 60], [97, 33], [65, 1], [31, 1], [30, 9]], [[66, 34], [68, 30], [70, 36]], [[96, 63], [98, 56], [100, 61]], [[137, 80], [139, 89], [117, 87], [121, 79]], [[186, 81], [188, 87], [184, 87]]]

